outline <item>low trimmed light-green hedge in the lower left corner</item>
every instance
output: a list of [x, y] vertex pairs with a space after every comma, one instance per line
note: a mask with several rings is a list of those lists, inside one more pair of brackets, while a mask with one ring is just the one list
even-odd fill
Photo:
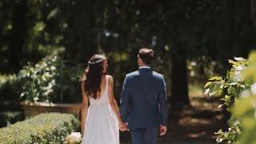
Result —
[[79, 121], [72, 114], [39, 114], [23, 122], [0, 129], [0, 142], [63, 143], [66, 135], [78, 131]]

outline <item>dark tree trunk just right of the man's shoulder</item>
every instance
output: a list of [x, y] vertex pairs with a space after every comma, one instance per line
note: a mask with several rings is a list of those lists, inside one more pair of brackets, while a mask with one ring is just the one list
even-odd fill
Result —
[[172, 57], [171, 71], [171, 104], [172, 106], [188, 106], [188, 79], [186, 68], [186, 50], [178, 47]]

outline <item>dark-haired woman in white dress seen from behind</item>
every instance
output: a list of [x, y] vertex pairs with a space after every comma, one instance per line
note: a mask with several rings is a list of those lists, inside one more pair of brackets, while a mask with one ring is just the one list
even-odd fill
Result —
[[95, 54], [82, 76], [82, 144], [119, 144], [119, 128], [126, 129], [114, 100], [113, 78], [106, 75], [107, 66], [106, 57]]

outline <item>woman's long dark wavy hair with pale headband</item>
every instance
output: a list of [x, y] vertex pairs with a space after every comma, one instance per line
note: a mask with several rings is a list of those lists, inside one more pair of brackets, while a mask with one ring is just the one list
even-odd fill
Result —
[[101, 92], [103, 62], [106, 61], [105, 55], [95, 54], [90, 58], [84, 76], [86, 77], [84, 90], [91, 98], [97, 98], [98, 91]]

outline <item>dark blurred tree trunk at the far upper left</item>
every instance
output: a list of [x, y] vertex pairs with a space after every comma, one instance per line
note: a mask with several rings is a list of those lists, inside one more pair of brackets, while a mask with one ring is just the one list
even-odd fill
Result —
[[14, 1], [12, 32], [9, 48], [10, 72], [17, 72], [21, 68], [22, 48], [26, 35], [26, 0]]

